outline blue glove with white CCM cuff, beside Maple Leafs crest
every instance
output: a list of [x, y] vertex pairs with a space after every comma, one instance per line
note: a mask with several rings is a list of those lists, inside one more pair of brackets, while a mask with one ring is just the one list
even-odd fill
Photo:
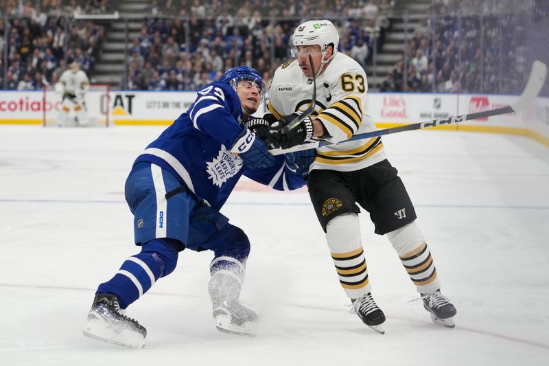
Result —
[[255, 137], [255, 133], [244, 128], [231, 146], [231, 152], [237, 154], [246, 168], [267, 168], [274, 163], [265, 143]]

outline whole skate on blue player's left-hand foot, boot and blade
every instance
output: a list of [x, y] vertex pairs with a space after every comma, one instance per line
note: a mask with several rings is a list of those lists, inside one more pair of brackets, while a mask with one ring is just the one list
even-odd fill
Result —
[[83, 332], [89, 338], [130, 348], [142, 348], [147, 336], [147, 330], [126, 317], [118, 297], [111, 294], [95, 294]]

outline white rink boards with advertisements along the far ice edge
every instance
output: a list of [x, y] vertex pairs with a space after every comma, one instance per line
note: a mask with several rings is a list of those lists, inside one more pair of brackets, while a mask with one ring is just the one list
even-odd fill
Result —
[[[108, 115], [111, 125], [171, 124], [187, 111], [196, 93], [172, 91], [110, 91], [92, 89], [86, 95], [90, 117]], [[368, 113], [380, 128], [447, 118], [515, 102], [513, 95], [369, 93]], [[61, 96], [53, 90], [0, 91], [0, 124], [43, 124], [55, 119]], [[256, 115], [263, 115], [264, 105]], [[537, 98], [525, 111], [459, 122], [445, 129], [500, 133], [531, 131], [549, 141], [549, 98]], [[527, 131], [527, 132], [528, 132]]]

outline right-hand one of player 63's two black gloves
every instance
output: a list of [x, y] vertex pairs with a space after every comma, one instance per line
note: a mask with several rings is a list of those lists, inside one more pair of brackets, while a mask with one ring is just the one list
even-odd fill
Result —
[[292, 122], [298, 115], [299, 113], [286, 115], [270, 126], [268, 139], [272, 146], [287, 149], [303, 144], [305, 141], [310, 141], [311, 137], [313, 137], [313, 122], [310, 117], [305, 117], [300, 124], [287, 133], [281, 133], [281, 129]]

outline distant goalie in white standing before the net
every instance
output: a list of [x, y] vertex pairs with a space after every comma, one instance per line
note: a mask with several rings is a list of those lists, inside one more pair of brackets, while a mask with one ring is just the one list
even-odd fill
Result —
[[72, 62], [70, 69], [61, 74], [56, 84], [56, 91], [63, 95], [61, 109], [56, 119], [58, 126], [67, 126], [71, 110], [74, 110], [78, 126], [88, 124], [85, 97], [89, 87], [90, 82], [86, 73], [80, 70], [77, 62]]

